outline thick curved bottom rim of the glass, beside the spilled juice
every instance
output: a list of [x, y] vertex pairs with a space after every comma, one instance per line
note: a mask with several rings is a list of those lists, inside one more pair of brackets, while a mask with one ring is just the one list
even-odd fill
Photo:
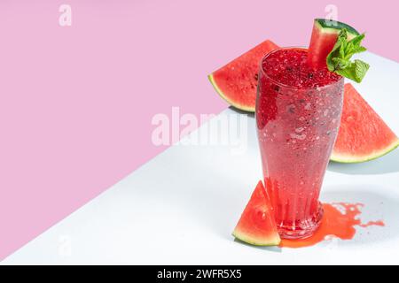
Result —
[[298, 226], [278, 226], [278, 233], [280, 238], [288, 240], [299, 240], [306, 239], [316, 232], [317, 228], [320, 226], [321, 219], [323, 218], [323, 206], [318, 203], [317, 212], [312, 218], [301, 221]]

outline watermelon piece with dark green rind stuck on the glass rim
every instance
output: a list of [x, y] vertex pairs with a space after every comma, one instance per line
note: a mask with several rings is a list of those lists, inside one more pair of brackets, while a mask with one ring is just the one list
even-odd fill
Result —
[[348, 31], [348, 40], [351, 40], [359, 33], [355, 28], [348, 26], [340, 21], [332, 21], [328, 19], [315, 19], [313, 24], [313, 32], [309, 44], [309, 64], [315, 68], [326, 67], [326, 58], [332, 51], [337, 42], [340, 30], [346, 28]]

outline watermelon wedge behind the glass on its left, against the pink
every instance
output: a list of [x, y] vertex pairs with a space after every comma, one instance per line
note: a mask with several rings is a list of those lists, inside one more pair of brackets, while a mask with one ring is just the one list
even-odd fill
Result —
[[239, 110], [254, 112], [259, 64], [262, 57], [276, 49], [278, 46], [273, 42], [262, 42], [208, 75], [208, 79], [227, 103]]

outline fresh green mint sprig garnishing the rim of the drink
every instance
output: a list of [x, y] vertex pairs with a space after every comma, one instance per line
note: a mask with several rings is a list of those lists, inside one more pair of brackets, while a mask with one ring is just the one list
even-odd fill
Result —
[[338, 35], [337, 42], [327, 56], [328, 70], [338, 73], [350, 80], [361, 82], [369, 70], [370, 65], [358, 59], [351, 61], [350, 58], [356, 53], [361, 53], [366, 50], [361, 46], [363, 39], [364, 34], [359, 34], [348, 41], [347, 29], [342, 28]]

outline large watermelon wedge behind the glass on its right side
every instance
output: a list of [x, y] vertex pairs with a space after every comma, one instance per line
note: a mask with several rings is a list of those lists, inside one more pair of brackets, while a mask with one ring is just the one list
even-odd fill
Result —
[[332, 161], [356, 163], [375, 159], [399, 146], [399, 139], [351, 84], [345, 85], [340, 130]]

